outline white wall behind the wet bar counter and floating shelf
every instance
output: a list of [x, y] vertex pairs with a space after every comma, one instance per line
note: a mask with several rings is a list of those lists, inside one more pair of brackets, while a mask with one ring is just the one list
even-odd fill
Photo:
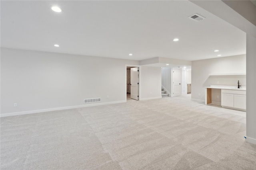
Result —
[[246, 72], [246, 55], [192, 61], [191, 98], [204, 100], [204, 87], [211, 84], [236, 86], [239, 80], [242, 86], [246, 86], [246, 76], [209, 76], [209, 73], [242, 72]]

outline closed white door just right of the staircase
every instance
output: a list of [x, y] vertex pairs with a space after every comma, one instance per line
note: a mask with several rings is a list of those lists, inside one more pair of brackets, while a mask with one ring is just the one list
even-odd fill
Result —
[[172, 69], [172, 96], [180, 96], [181, 90], [181, 71], [180, 69]]

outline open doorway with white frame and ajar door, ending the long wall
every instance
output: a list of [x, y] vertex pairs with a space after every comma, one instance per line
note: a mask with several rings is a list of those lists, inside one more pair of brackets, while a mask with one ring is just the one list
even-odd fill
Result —
[[126, 66], [126, 102], [139, 100], [139, 67]]

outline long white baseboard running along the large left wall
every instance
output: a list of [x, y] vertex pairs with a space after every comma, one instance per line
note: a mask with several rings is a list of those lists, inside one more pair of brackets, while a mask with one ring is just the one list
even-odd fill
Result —
[[0, 115], [0, 117], [26, 115], [26, 114], [42, 113], [42, 112], [56, 111], [56, 110], [76, 109], [76, 108], [90, 107], [90, 106], [101, 106], [101, 105], [107, 105], [107, 104], [118, 104], [118, 103], [124, 103], [124, 102], [126, 102], [126, 101], [122, 100], [122, 101], [116, 101], [116, 102], [104, 102], [104, 103], [95, 103], [95, 104], [84, 104], [84, 105], [79, 105], [79, 106], [68, 106], [68, 107], [57, 107], [57, 108], [51, 108], [51, 109], [40, 109], [40, 110], [21, 111], [21, 112], [13, 112], [13, 113], [2, 113]]

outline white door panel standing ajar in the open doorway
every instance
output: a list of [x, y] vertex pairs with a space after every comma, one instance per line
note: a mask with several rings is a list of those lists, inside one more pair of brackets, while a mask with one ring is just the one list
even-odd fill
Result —
[[131, 68], [131, 98], [139, 100], [138, 97], [138, 87], [139, 87], [139, 72], [138, 67]]

